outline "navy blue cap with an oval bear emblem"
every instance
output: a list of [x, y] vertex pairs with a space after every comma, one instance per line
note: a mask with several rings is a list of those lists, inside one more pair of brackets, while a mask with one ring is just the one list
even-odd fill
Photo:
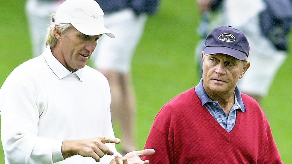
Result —
[[245, 34], [231, 26], [214, 28], [206, 38], [204, 55], [226, 54], [239, 60], [249, 57], [249, 42]]

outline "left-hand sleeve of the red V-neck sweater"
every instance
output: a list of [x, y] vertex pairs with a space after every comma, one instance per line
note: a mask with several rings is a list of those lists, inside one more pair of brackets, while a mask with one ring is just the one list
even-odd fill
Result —
[[171, 114], [164, 106], [155, 117], [144, 147], [144, 149], [154, 149], [155, 153], [144, 156], [143, 160], [147, 159], [152, 164], [173, 163], [173, 139], [170, 129]]

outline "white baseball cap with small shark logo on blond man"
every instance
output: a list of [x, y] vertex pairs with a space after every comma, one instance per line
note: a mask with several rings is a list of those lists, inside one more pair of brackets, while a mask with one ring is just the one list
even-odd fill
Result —
[[106, 34], [115, 38], [104, 26], [103, 15], [103, 10], [94, 0], [66, 0], [59, 6], [52, 21], [56, 24], [72, 24], [85, 35]]

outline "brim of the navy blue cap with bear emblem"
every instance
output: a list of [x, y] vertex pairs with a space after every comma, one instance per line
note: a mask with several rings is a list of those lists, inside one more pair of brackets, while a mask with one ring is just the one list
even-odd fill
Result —
[[226, 54], [235, 57], [239, 60], [244, 60], [246, 54], [228, 47], [212, 46], [204, 48], [204, 55]]

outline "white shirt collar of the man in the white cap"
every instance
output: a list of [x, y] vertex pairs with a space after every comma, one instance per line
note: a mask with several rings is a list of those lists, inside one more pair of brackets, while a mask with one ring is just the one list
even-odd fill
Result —
[[50, 46], [47, 46], [46, 50], [43, 52], [43, 58], [45, 59], [47, 65], [49, 68], [53, 71], [53, 73], [56, 75], [56, 77], [60, 80], [69, 74], [76, 74], [80, 81], [82, 81], [82, 75], [83, 75], [83, 68], [78, 69], [75, 72], [71, 72], [67, 70], [66, 67], [64, 67], [53, 55]]

